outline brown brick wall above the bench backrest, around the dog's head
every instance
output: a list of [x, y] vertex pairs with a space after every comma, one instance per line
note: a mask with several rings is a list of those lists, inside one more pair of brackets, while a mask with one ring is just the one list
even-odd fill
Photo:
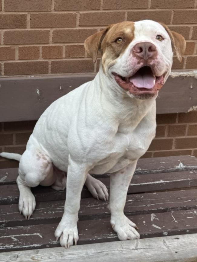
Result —
[[181, 63], [197, 64], [196, 0], [0, 0], [0, 72], [40, 75], [96, 72], [84, 40], [111, 23], [153, 19], [169, 25], [187, 41]]

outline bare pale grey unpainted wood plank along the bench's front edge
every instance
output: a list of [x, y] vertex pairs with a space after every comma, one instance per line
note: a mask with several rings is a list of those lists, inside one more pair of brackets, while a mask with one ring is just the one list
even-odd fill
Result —
[[195, 262], [197, 261], [197, 234], [166, 236], [72, 246], [69, 249], [45, 248], [11, 251], [0, 254], [8, 262]]

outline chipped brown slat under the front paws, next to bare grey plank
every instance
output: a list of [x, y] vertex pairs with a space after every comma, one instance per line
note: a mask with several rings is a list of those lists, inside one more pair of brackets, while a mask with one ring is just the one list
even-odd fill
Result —
[[[157, 213], [154, 219], [151, 214], [128, 217], [139, 226], [141, 238], [197, 233], [196, 210]], [[3, 252], [57, 247], [59, 242], [54, 238], [56, 227], [57, 224], [47, 224], [2, 228], [0, 250]], [[78, 244], [118, 240], [109, 218], [79, 221], [78, 231]]]

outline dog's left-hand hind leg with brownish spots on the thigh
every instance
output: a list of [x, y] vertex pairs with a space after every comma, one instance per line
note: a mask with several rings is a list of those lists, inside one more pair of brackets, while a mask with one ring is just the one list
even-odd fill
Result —
[[18, 208], [20, 213], [29, 219], [36, 205], [31, 187], [39, 184], [51, 186], [55, 181], [51, 159], [42, 150], [29, 148], [20, 159], [18, 173], [17, 185], [20, 191]]

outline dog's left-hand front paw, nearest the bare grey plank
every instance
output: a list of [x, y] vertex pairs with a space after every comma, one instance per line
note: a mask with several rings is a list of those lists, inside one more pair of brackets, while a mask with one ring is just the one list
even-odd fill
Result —
[[73, 245], [73, 242], [76, 245], [79, 240], [77, 224], [75, 226], [65, 226], [59, 223], [55, 230], [55, 237], [56, 240], [60, 238], [62, 247], [69, 248]]

